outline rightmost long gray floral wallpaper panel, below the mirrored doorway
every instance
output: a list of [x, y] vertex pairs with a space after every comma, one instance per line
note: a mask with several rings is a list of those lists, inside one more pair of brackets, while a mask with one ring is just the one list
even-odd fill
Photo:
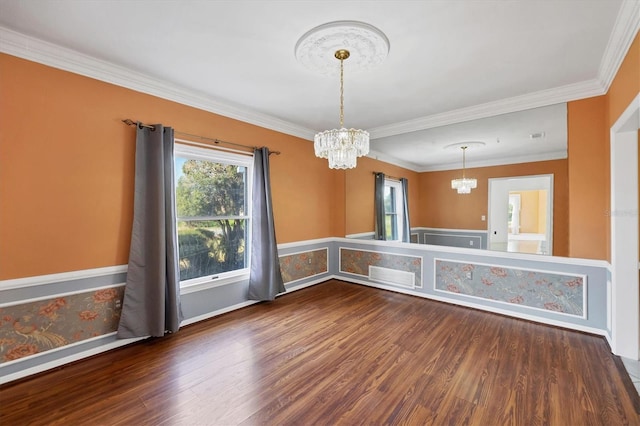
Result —
[[435, 289], [586, 318], [583, 275], [435, 259]]

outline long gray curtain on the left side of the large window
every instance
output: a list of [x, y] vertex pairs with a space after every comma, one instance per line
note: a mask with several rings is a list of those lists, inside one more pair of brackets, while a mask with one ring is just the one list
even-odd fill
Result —
[[137, 125], [133, 230], [118, 338], [163, 336], [182, 320], [173, 129]]

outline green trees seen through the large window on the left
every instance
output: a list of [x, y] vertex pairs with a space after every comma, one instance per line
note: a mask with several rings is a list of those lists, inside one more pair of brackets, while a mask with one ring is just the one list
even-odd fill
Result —
[[[238, 166], [188, 160], [176, 186], [178, 217], [245, 214], [245, 173]], [[183, 220], [178, 224], [180, 279], [245, 266], [245, 220]]]

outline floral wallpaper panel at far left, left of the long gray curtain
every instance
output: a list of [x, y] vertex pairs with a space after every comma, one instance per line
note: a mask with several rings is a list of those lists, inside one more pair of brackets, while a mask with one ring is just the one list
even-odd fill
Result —
[[124, 286], [0, 308], [0, 363], [116, 331]]

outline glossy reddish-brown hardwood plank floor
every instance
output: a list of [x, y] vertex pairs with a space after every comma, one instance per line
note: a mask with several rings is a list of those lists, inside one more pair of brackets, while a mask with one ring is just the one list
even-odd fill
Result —
[[620, 366], [598, 336], [328, 281], [5, 385], [0, 424], [638, 425]]

